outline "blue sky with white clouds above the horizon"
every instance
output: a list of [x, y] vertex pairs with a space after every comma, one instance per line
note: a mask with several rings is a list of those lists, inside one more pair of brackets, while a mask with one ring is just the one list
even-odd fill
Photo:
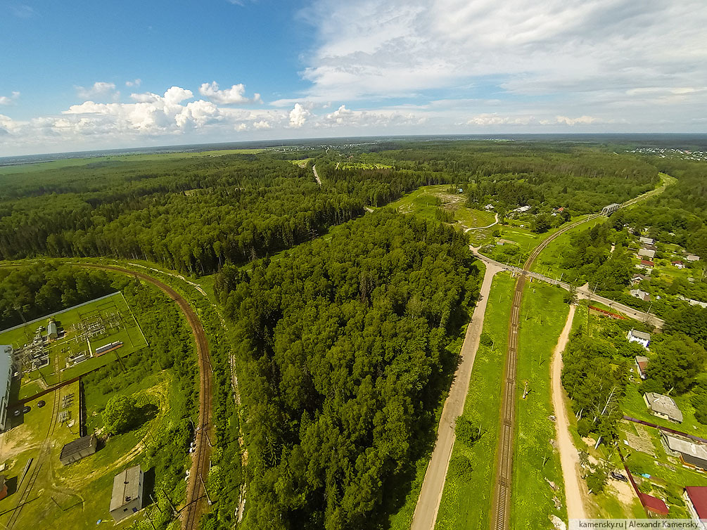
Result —
[[707, 132], [704, 0], [0, 0], [0, 156]]

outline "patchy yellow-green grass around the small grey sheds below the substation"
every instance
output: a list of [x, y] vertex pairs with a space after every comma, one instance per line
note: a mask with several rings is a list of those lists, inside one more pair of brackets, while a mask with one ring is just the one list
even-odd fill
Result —
[[[110, 437], [105, 446], [99, 444], [98, 452], [69, 466], [59, 462], [59, 453], [64, 444], [76, 439], [78, 425], [57, 425], [51, 438], [49, 456], [40, 468], [37, 481], [29, 498], [31, 503], [21, 511], [14, 529], [49, 529], [88, 530], [95, 528], [99, 519], [108, 522], [111, 528], [125, 529], [143, 519], [143, 512], [114, 524], [108, 512], [112, 481], [116, 473], [128, 466], [139, 464], [145, 447], [159, 437], [160, 430], [172, 419], [170, 413], [170, 381], [173, 377], [169, 370], [158, 372], [143, 379], [139, 384], [131, 385], [117, 394], [132, 395], [139, 406], [148, 405], [156, 413], [144, 418], [144, 423], [134, 430]], [[78, 382], [62, 387], [62, 396], [74, 394], [71, 406], [72, 417], [78, 418]], [[103, 395], [86, 387], [86, 409], [88, 431], [100, 428], [100, 411], [107, 398], [115, 395]], [[52, 394], [42, 396], [47, 401], [43, 408], [36, 407], [36, 401], [29, 405], [32, 411], [24, 418], [24, 423], [0, 435], [2, 459], [6, 464], [8, 478], [21, 476], [28, 459], [36, 459], [39, 444], [47, 434], [47, 425], [52, 416]], [[148, 408], [149, 408], [148, 407]], [[143, 471], [147, 471], [143, 469]], [[27, 479], [25, 478], [25, 481]], [[24, 483], [22, 484], [24, 485]], [[12, 493], [3, 501], [2, 507], [11, 510], [16, 506], [21, 492]], [[150, 502], [147, 499], [146, 504]], [[156, 510], [151, 507], [150, 510]], [[0, 515], [0, 525], [8, 522], [9, 514]], [[50, 522], [50, 523], [49, 523]], [[47, 526], [49, 525], [49, 526]]]

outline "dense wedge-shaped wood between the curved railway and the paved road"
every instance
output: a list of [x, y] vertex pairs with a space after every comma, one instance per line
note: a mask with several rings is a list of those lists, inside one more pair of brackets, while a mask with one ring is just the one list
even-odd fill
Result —
[[433, 428], [478, 284], [460, 232], [392, 211], [223, 269], [216, 290], [247, 366], [253, 528], [381, 524], [385, 492]]

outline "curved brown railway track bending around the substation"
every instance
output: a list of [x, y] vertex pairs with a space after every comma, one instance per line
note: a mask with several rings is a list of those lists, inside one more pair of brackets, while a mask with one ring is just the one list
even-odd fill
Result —
[[196, 428], [197, 447], [194, 451], [194, 459], [192, 459], [192, 468], [189, 470], [189, 481], [187, 483], [187, 504], [182, 509], [181, 514], [183, 517], [182, 529], [197, 529], [199, 527], [201, 514], [203, 514], [206, 509], [204, 503], [206, 486], [204, 483], [206, 482], [206, 477], [209, 475], [209, 462], [211, 457], [209, 430], [211, 430], [211, 384], [213, 377], [211, 374], [211, 362], [209, 361], [209, 343], [206, 341], [204, 326], [201, 325], [201, 320], [199, 320], [192, 306], [187, 303], [182, 295], [177, 293], [177, 291], [169, 285], [162, 283], [152, 276], [112, 265], [76, 263], [72, 265], [128, 274], [152, 283], [172, 300], [177, 302], [180, 310], [182, 310], [182, 313], [187, 317], [189, 327], [192, 328], [194, 341], [197, 343], [197, 357], [199, 360], [199, 420]]

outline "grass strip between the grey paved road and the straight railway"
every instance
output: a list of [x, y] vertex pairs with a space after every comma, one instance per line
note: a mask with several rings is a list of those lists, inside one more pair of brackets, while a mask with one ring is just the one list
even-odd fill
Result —
[[484, 318], [484, 335], [493, 349], [481, 344], [474, 360], [462, 418], [481, 425], [481, 438], [469, 446], [457, 440], [440, 503], [435, 529], [487, 528], [498, 439], [503, 359], [508, 340], [508, 318], [515, 280], [508, 273], [493, 278]]

